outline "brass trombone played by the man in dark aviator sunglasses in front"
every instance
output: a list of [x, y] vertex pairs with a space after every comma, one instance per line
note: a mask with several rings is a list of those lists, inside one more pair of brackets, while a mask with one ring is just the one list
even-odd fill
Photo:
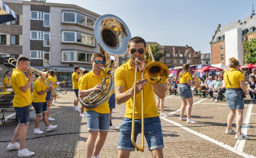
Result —
[[[150, 45], [146, 46], [146, 52], [149, 53], [149, 58], [146, 59], [144, 56], [144, 62], [146, 63], [146, 67], [142, 72], [142, 79], [145, 77], [151, 84], [162, 84], [166, 81], [169, 76], [169, 68], [158, 61], [155, 61], [153, 57], [153, 53], [151, 51]], [[136, 57], [136, 60], [139, 58]], [[131, 132], [131, 142], [133, 146], [143, 152], [144, 151], [144, 89], [141, 89], [142, 93], [142, 101], [141, 101], [141, 148], [138, 147], [134, 141], [134, 125], [135, 125], [135, 104], [136, 104], [136, 81], [137, 81], [137, 66], [138, 63], [135, 62], [135, 78], [134, 78], [134, 92], [133, 92], [133, 119], [132, 119], [132, 132]]]

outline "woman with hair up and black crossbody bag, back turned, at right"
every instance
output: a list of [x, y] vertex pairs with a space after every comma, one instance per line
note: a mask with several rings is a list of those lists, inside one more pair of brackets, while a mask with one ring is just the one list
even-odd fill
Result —
[[[230, 109], [228, 115], [228, 126], [226, 129], [226, 134], [236, 134], [235, 139], [249, 139], [249, 137], [244, 136], [241, 132], [243, 123], [243, 112], [244, 112], [244, 98], [238, 97], [237, 91], [243, 91], [246, 93], [246, 88], [244, 85], [243, 74], [239, 71], [239, 61], [236, 58], [229, 58], [230, 70], [223, 74], [223, 80], [225, 81], [226, 92], [225, 97]], [[232, 122], [236, 115], [236, 131], [232, 129]]]

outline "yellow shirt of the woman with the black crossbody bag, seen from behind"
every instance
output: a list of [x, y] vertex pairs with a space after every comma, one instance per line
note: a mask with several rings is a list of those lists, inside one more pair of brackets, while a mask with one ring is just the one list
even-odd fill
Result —
[[223, 80], [225, 81], [226, 88], [232, 88], [228, 82], [227, 73], [229, 76], [229, 81], [231, 82], [233, 87], [240, 88], [239, 81], [244, 81], [243, 74], [233, 67], [231, 67], [229, 71], [225, 71], [225, 73], [223, 74]]

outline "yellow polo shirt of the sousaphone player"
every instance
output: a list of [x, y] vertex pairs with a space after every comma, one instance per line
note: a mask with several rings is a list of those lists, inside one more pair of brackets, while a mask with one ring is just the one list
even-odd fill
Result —
[[[91, 89], [94, 88], [97, 84], [101, 83], [101, 79], [104, 79], [105, 75], [103, 71], [101, 70], [99, 76], [94, 74], [93, 70], [85, 74], [80, 82], [79, 91]], [[109, 80], [106, 81], [106, 87], [108, 87]], [[93, 109], [85, 108], [85, 112], [88, 110], [94, 110], [101, 114], [107, 114], [109, 113], [109, 106], [108, 106], [108, 100], [105, 101], [101, 106]]]

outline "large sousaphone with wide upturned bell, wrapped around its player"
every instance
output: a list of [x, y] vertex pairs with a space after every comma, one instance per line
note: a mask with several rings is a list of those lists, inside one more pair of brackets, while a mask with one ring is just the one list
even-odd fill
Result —
[[[100, 91], [93, 91], [83, 98], [79, 98], [80, 103], [85, 108], [96, 108], [105, 103], [114, 91], [114, 76], [109, 66], [111, 64], [110, 55], [122, 56], [127, 53], [127, 45], [131, 39], [131, 33], [122, 19], [115, 15], [106, 14], [100, 16], [94, 25], [94, 35], [100, 46], [100, 53], [104, 56], [104, 66], [100, 67], [105, 74], [101, 80]], [[106, 87], [109, 80], [108, 87]]]

